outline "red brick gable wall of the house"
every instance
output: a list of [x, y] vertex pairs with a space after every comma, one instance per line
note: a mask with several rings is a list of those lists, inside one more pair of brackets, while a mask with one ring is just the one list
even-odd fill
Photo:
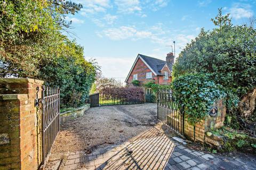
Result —
[[[133, 75], [138, 74], [138, 81], [145, 83], [152, 80], [157, 80], [157, 77], [152, 72], [152, 79], [146, 79], [146, 73], [151, 72], [151, 70], [148, 68], [148, 66], [139, 58], [137, 63], [135, 63], [133, 70], [130, 74], [129, 79], [127, 80], [127, 83], [131, 83], [133, 81]], [[158, 81], [156, 81], [158, 82]]]

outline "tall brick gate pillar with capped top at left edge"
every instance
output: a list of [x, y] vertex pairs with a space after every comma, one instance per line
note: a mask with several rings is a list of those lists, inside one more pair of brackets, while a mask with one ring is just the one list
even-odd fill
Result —
[[43, 81], [0, 78], [0, 169], [37, 169], [41, 163], [41, 117], [36, 87]]

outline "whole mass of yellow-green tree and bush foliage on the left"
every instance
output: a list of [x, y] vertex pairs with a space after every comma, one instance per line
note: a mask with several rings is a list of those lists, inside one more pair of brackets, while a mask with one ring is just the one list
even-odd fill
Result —
[[62, 33], [71, 24], [65, 16], [81, 8], [66, 0], [0, 1], [0, 77], [44, 80], [60, 87], [61, 107], [82, 105], [99, 67]]

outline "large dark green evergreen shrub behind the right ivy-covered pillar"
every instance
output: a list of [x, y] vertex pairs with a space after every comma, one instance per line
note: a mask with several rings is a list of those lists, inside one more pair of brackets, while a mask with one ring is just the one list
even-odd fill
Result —
[[[231, 118], [230, 125], [239, 122], [239, 126], [235, 128], [249, 129], [255, 135], [256, 90], [253, 89], [256, 87], [256, 30], [247, 25], [232, 25], [229, 14], [223, 16], [221, 9], [212, 21], [217, 28], [212, 31], [202, 29], [195, 40], [182, 50], [173, 66], [173, 76], [181, 80], [180, 86], [183, 86], [183, 93], [187, 97], [191, 90], [186, 87], [192, 86], [196, 89], [199, 82], [191, 80], [186, 83], [186, 74], [195, 74], [196, 80], [202, 79], [202, 82], [207, 82], [206, 84], [211, 82], [207, 89], [198, 89], [193, 95], [189, 95], [190, 98], [203, 102], [196, 104], [196, 107], [187, 108], [190, 109], [190, 113], [196, 114], [199, 107], [206, 112], [207, 105], [220, 98], [221, 96], [218, 95], [222, 93], [214, 90], [206, 94], [207, 102], [204, 102], [201, 93], [208, 93], [211, 88], [222, 86], [226, 94], [228, 115]], [[193, 76], [191, 74], [189, 77]], [[207, 74], [207, 81], [203, 79], [202, 74]], [[174, 87], [182, 92], [177, 80], [174, 81], [176, 83]], [[183, 98], [182, 102], [186, 105], [188, 100], [190, 99]], [[191, 122], [201, 117], [203, 115], [195, 116], [195, 120]]]

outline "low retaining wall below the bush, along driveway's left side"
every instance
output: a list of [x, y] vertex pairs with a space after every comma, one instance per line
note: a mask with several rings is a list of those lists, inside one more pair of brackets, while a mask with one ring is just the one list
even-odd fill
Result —
[[73, 120], [74, 118], [83, 116], [84, 112], [87, 111], [87, 109], [89, 108], [90, 108], [90, 104], [86, 104], [82, 107], [74, 109], [73, 111], [67, 111], [67, 112], [61, 113], [60, 123], [64, 123], [64, 122]]

